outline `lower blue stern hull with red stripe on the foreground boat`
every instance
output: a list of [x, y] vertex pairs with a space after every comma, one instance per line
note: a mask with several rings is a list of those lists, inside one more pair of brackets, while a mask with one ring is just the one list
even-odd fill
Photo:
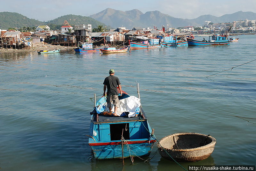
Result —
[[[127, 143], [126, 143], [127, 142]], [[123, 143], [123, 157], [149, 156], [156, 140], [130, 141]], [[128, 144], [128, 145], [127, 145]], [[119, 142], [89, 143], [96, 159], [122, 158], [122, 144]], [[129, 151], [130, 149], [130, 151]]]

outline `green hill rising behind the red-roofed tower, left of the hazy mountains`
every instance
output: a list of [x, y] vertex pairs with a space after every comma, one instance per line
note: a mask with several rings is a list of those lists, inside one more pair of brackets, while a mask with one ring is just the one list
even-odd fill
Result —
[[81, 15], [73, 15], [73, 14], [58, 17], [57, 19], [53, 19], [53, 20], [50, 20], [49, 22], [46, 22], [46, 24], [47, 25], [54, 24], [57, 26], [63, 25], [65, 20], [67, 20], [71, 26], [74, 26], [75, 24], [85, 24], [85, 25], [91, 24], [92, 28], [97, 28], [97, 26], [99, 25], [106, 26], [104, 23], [101, 23], [100, 21], [92, 19], [91, 17], [84, 17]]

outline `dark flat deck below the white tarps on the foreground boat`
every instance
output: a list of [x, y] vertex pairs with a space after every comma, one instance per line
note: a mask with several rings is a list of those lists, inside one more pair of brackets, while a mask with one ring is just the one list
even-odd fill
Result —
[[[142, 117], [141, 117], [142, 113]], [[93, 114], [93, 123], [115, 123], [115, 122], [131, 122], [131, 121], [146, 121], [148, 118], [146, 117], [144, 111], [141, 109], [141, 113], [136, 117], [116, 117], [116, 116], [107, 116], [107, 115], [100, 115], [98, 114], [98, 121], [97, 115]], [[140, 119], [141, 117], [141, 119]]]

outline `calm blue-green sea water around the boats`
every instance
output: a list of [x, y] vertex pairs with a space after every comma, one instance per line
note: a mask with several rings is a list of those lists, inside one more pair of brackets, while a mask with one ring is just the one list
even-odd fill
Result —
[[[182, 170], [161, 158], [95, 160], [88, 145], [93, 93], [113, 68], [123, 90], [137, 95], [156, 138], [177, 132], [210, 134], [212, 155], [188, 165], [255, 165], [256, 35], [229, 46], [0, 54], [0, 167], [3, 171]], [[145, 158], [147, 159], [147, 158]]]

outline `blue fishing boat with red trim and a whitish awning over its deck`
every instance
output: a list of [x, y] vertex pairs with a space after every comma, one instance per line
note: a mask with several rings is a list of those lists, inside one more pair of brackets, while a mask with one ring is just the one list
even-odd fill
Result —
[[145, 36], [136, 36], [138, 41], [130, 41], [131, 49], [148, 49], [148, 48], [160, 48], [161, 44], [159, 43], [158, 38], [147, 38]]

